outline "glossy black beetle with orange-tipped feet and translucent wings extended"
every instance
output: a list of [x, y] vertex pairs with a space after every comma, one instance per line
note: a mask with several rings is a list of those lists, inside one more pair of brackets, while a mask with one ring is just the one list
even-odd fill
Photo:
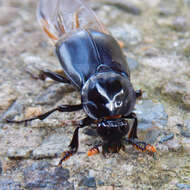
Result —
[[[62, 153], [59, 166], [78, 150], [80, 128], [96, 125], [102, 142], [88, 151], [117, 153], [130, 143], [141, 151], [156, 152], [154, 146], [139, 141], [137, 117], [133, 112], [141, 91], [135, 91], [130, 71], [118, 42], [107, 32], [94, 12], [80, 0], [40, 0], [37, 8], [42, 29], [55, 45], [55, 53], [65, 76], [44, 70], [43, 75], [74, 86], [81, 104], [60, 105], [44, 114], [12, 123], [43, 120], [55, 111], [73, 112], [83, 109], [86, 117], [76, 127], [69, 150]], [[133, 119], [129, 126], [128, 119]], [[128, 138], [126, 135], [128, 134]]]

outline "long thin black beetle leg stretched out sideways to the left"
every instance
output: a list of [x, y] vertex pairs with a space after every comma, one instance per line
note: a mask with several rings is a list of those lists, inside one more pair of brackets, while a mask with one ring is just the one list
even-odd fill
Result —
[[20, 120], [20, 121], [17, 121], [17, 120], [9, 120], [7, 119], [7, 122], [8, 123], [26, 123], [28, 121], [33, 121], [33, 120], [36, 120], [36, 119], [39, 119], [39, 120], [44, 120], [46, 117], [48, 117], [50, 114], [52, 114], [53, 112], [55, 111], [59, 111], [59, 112], [72, 112], [72, 111], [78, 111], [78, 110], [81, 110], [82, 109], [82, 104], [78, 104], [78, 105], [61, 105], [61, 106], [58, 106], [57, 108], [54, 108], [44, 114], [41, 114], [41, 115], [38, 115], [36, 117], [32, 117], [30, 119], [25, 119], [25, 120]]

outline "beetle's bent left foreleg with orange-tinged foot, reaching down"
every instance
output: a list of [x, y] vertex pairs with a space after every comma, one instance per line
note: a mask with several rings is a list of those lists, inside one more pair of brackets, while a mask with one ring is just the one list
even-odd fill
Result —
[[89, 117], [86, 117], [80, 121], [79, 126], [75, 129], [75, 131], [73, 133], [73, 138], [70, 142], [69, 150], [64, 151], [62, 153], [61, 160], [59, 161], [59, 164], [58, 164], [59, 167], [61, 167], [62, 162], [66, 161], [68, 158], [70, 158], [73, 154], [75, 154], [77, 152], [78, 146], [79, 146], [79, 138], [78, 138], [79, 129], [83, 128], [87, 125], [90, 125], [93, 122], [94, 121]]

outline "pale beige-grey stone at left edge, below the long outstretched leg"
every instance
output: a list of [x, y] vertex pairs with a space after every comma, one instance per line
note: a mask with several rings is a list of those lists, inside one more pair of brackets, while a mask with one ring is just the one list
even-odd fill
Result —
[[45, 133], [44, 129], [31, 129], [30, 126], [23, 125], [18, 128], [12, 125], [0, 130], [1, 155], [12, 159], [29, 158], [31, 152], [41, 143]]

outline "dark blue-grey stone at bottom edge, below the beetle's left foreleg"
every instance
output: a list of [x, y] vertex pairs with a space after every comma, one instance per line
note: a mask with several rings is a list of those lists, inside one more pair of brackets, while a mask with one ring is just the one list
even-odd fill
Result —
[[69, 179], [69, 170], [54, 168], [46, 161], [40, 161], [24, 168], [24, 184], [26, 189], [60, 189], [72, 190]]

